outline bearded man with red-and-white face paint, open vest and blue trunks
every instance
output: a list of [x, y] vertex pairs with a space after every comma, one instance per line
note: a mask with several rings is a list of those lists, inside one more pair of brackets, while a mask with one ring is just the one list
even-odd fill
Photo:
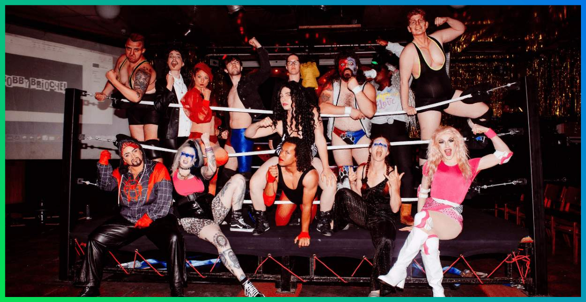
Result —
[[[350, 118], [330, 118], [328, 138], [332, 146], [370, 143], [370, 118], [376, 113], [376, 91], [366, 82], [360, 60], [352, 50], [344, 50], [336, 56], [338, 73], [319, 96], [319, 107], [324, 114], [349, 114]], [[332, 132], [335, 134], [332, 136]], [[340, 182], [347, 184], [347, 171], [357, 164], [366, 162], [368, 150], [333, 150], [333, 159], [339, 169]]]

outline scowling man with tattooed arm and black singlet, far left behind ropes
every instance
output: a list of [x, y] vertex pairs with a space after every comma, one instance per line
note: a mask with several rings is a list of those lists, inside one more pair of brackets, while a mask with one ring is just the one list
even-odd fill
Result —
[[[138, 104], [141, 101], [155, 101], [155, 69], [145, 59], [145, 37], [132, 33], [126, 40], [126, 53], [118, 57], [115, 70], [108, 70], [102, 92], [96, 92], [96, 99], [103, 101], [114, 89], [132, 104], [126, 109], [130, 135], [147, 145], [157, 146], [159, 114], [152, 105]], [[127, 63], [128, 62], [128, 63]], [[162, 162], [161, 152], [147, 149], [147, 156]]]

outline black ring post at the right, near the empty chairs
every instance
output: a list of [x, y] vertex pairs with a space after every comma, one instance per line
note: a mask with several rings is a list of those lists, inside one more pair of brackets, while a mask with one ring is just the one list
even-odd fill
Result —
[[543, 204], [543, 168], [541, 163], [541, 141], [539, 131], [539, 99], [533, 78], [524, 77], [523, 85], [527, 100], [527, 132], [529, 132], [529, 160], [531, 163], [531, 187], [533, 210], [534, 253], [531, 262], [533, 286], [529, 287], [532, 296], [547, 295], [547, 242], [545, 213]]

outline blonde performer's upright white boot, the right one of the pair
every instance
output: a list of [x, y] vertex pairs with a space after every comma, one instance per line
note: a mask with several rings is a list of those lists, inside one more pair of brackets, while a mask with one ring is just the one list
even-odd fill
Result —
[[441, 286], [444, 280], [444, 269], [440, 262], [440, 238], [431, 235], [421, 247], [421, 260], [425, 268], [427, 283], [434, 291], [434, 297], [445, 297], [444, 287]]

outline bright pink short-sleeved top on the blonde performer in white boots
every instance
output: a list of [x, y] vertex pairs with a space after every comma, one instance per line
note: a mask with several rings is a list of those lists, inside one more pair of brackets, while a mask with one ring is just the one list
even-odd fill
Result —
[[[470, 169], [472, 170], [472, 178], [464, 179], [462, 171], [456, 164], [455, 166], [448, 166], [443, 161], [438, 164], [438, 169], [434, 173], [434, 179], [431, 180], [430, 197], [439, 198], [451, 201], [452, 203], [461, 204], [468, 193], [468, 188], [472, 184], [472, 180], [478, 175], [478, 164], [480, 157], [469, 159]], [[423, 174], [427, 176], [428, 167], [427, 162], [423, 166]]]

